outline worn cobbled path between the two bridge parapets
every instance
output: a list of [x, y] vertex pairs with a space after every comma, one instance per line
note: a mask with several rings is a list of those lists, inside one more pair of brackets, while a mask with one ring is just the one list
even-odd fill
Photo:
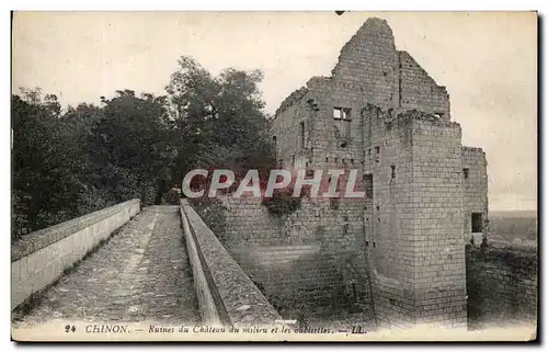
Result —
[[198, 322], [179, 207], [141, 211], [103, 247], [47, 289], [14, 325], [52, 319]]

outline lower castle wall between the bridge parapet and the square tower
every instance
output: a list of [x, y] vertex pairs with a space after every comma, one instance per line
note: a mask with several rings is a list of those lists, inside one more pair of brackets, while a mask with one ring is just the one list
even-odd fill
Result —
[[352, 222], [361, 207], [333, 212], [329, 200], [302, 198], [294, 213], [273, 215], [260, 198], [222, 203], [225, 247], [279, 314], [342, 306], [370, 313], [363, 227]]

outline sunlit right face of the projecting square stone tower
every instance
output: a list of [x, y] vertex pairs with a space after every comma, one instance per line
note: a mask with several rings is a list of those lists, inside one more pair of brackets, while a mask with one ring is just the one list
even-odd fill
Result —
[[413, 120], [413, 251], [418, 321], [466, 328], [460, 126]]

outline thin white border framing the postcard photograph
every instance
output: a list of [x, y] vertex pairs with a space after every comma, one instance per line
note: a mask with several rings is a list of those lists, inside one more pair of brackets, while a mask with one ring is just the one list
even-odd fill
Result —
[[[0, 21], [1, 26], [1, 47], [8, 48], [10, 46], [10, 14], [9, 10], [15, 9], [15, 10], [46, 10], [46, 11], [54, 11], [54, 10], [78, 10], [78, 11], [90, 11], [90, 10], [117, 10], [117, 11], [128, 11], [128, 10], [138, 10], [138, 11], [169, 11], [169, 10], [191, 10], [191, 11], [196, 11], [196, 10], [231, 10], [231, 11], [238, 11], [238, 10], [259, 10], [259, 11], [279, 11], [279, 10], [315, 10], [315, 11], [321, 11], [321, 10], [339, 10], [339, 9], [350, 9], [350, 10], [367, 10], [367, 11], [378, 11], [378, 10], [391, 10], [391, 11], [481, 11], [481, 10], [488, 10], [488, 11], [529, 11], [529, 10], [539, 10], [540, 14], [544, 15], [546, 13], [546, 7], [547, 7], [548, 1], [533, 1], [533, 0], [520, 0], [520, 1], [477, 1], [477, 0], [460, 0], [460, 1], [393, 1], [393, 0], [383, 0], [383, 1], [330, 1], [330, 2], [319, 2], [319, 1], [288, 1], [288, 0], [277, 0], [277, 1], [271, 1], [271, 2], [259, 2], [259, 1], [212, 1], [212, 0], [201, 0], [201, 1], [193, 1], [193, 2], [187, 2], [182, 4], [181, 1], [167, 1], [167, 0], [155, 0], [155, 1], [127, 1], [127, 2], [115, 2], [112, 0], [95, 0], [95, 1], [90, 1], [90, 2], [77, 2], [77, 1], [3, 1], [2, 2], [2, 11], [0, 15]], [[333, 9], [335, 8], [335, 9]], [[546, 44], [546, 23], [544, 24], [541, 29], [543, 33], [540, 37], [543, 38], [543, 44]], [[7, 53], [10, 53], [7, 50]], [[2, 77], [2, 94], [1, 94], [1, 102], [2, 102], [2, 112], [3, 112], [3, 118], [1, 120], [1, 132], [2, 132], [2, 138], [0, 139], [2, 141], [2, 148], [1, 150], [1, 157], [0, 160], [3, 162], [7, 162], [10, 160], [10, 94], [11, 94], [11, 82], [10, 82], [10, 56], [11, 54], [8, 55], [2, 55], [1, 59], [2, 63], [0, 65], [1, 68], [1, 77]], [[546, 58], [545, 58], [546, 60]], [[546, 70], [543, 72], [541, 80], [543, 82], [545, 81], [546, 78]], [[539, 96], [539, 101], [547, 101], [546, 96], [546, 91], [543, 92], [543, 96]], [[543, 126], [543, 135], [547, 136], [548, 135], [548, 127], [547, 124], [545, 123]], [[543, 161], [546, 164], [548, 161], [548, 151], [546, 149], [546, 144], [545, 148], [540, 151], [540, 156], [543, 156]], [[10, 164], [3, 168], [4, 171], [1, 174], [1, 186], [0, 186], [0, 200], [1, 200], [1, 216], [2, 216], [2, 222], [1, 225], [3, 227], [3, 236], [4, 236], [4, 241], [7, 242], [4, 246], [1, 246], [2, 250], [2, 256], [1, 258], [4, 258], [5, 264], [1, 265], [1, 272], [2, 272], [2, 286], [3, 286], [3, 294], [2, 297], [2, 317], [4, 317], [1, 326], [1, 330], [3, 333], [2, 338], [2, 348], [5, 348], [5, 350], [11, 350], [14, 349], [16, 345], [12, 342], [10, 342], [10, 330], [11, 330], [11, 321], [9, 319], [11, 309], [10, 305], [8, 304], [9, 299], [9, 282], [10, 282], [10, 270], [8, 269], [8, 258], [10, 258], [10, 243], [8, 242], [10, 240]], [[540, 189], [539, 189], [540, 190]], [[545, 192], [543, 191], [543, 195], [546, 196]], [[539, 214], [540, 216], [544, 217], [545, 212], [543, 214]], [[543, 236], [544, 234], [539, 234], [539, 236]], [[546, 242], [548, 240], [543, 241], [543, 253], [546, 253]], [[543, 260], [543, 262], [546, 262], [546, 260]], [[544, 265], [540, 270], [540, 274], [545, 272]], [[545, 281], [543, 280], [543, 283]], [[544, 288], [544, 287], [543, 287]], [[544, 293], [544, 291], [543, 291]], [[544, 309], [546, 309], [546, 303], [543, 304]], [[543, 309], [543, 317], [544, 315], [544, 309]], [[546, 321], [543, 326], [546, 326]], [[546, 338], [546, 334], [543, 333]], [[65, 348], [68, 348], [70, 350], [72, 349], [81, 349], [83, 345], [65, 345]], [[155, 345], [156, 347], [156, 345]], [[140, 345], [137, 347], [139, 349], [150, 349], [155, 348], [152, 345]], [[240, 345], [225, 345], [228, 348], [240, 348]], [[258, 345], [248, 345], [244, 348], [254, 348]], [[275, 345], [275, 347], [283, 347], [283, 345]], [[358, 349], [367, 349], [367, 350], [378, 350], [379, 348], [383, 348], [383, 345], [364, 345], [364, 344], [349, 344], [344, 345], [344, 348], [358, 348]], [[412, 348], [412, 349], [418, 349], [422, 350], [424, 348], [434, 348], [434, 349], [439, 349], [442, 345], [392, 345], [392, 348], [401, 349], [401, 348]], [[37, 348], [37, 347], [35, 347]], [[38, 349], [39, 350], [56, 350], [58, 349], [58, 344], [54, 345], [41, 345]], [[88, 347], [90, 348], [90, 347]], [[111, 345], [91, 345], [91, 349], [101, 349], [102, 351], [106, 350], [115, 350], [123, 348], [119, 344], [111, 344]], [[126, 348], [135, 349], [135, 345], [126, 345]], [[163, 348], [165, 348], [163, 345]], [[185, 350], [194, 350], [197, 348], [205, 348], [207, 350], [209, 349], [218, 349], [219, 345], [206, 345], [206, 347], [197, 347], [197, 345], [170, 345], [170, 349], [173, 350], [180, 350], [180, 349], [185, 349]], [[260, 345], [258, 347], [260, 349], [263, 348], [272, 348], [267, 345]], [[298, 348], [302, 349], [305, 348], [304, 345], [297, 345], [293, 348]], [[338, 349], [341, 348], [340, 344], [338, 345], [311, 345], [308, 348], [317, 349]], [[453, 347], [455, 348], [455, 347]], [[456, 347], [459, 350], [468, 350], [471, 348], [470, 345], [458, 345]], [[496, 349], [499, 350], [501, 345], [482, 345], [481, 348], [487, 348], [487, 349]], [[524, 349], [525, 345], [521, 347], [513, 347], [513, 348], [518, 348], [518, 349]], [[4, 350], [4, 349], [2, 349]]]

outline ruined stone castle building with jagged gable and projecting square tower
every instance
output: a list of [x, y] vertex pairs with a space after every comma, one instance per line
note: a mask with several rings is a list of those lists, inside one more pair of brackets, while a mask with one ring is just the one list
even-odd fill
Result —
[[365, 198], [331, 204], [324, 237], [364, 253], [378, 320], [466, 327], [465, 242], [488, 232], [486, 155], [461, 145], [446, 88], [385, 20], [365, 22], [331, 77], [293, 92], [271, 133], [284, 166], [359, 170]]

